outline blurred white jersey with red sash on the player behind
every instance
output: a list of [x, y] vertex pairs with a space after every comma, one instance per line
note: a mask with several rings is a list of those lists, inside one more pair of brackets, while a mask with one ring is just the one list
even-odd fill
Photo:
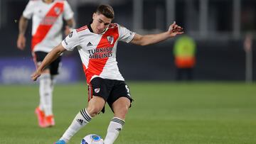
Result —
[[43, 0], [31, 0], [23, 11], [23, 17], [33, 17], [32, 51], [50, 52], [63, 39], [63, 18], [73, 18], [73, 11], [65, 0], [55, 0], [50, 4]]

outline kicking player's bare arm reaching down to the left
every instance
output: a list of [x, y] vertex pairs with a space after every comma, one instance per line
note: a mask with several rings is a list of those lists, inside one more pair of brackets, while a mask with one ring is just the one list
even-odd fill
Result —
[[53, 62], [54, 60], [56, 60], [56, 58], [58, 58], [60, 56], [60, 54], [62, 52], [64, 52], [66, 49], [63, 47], [63, 45], [60, 43], [60, 45], [56, 46], [55, 48], [53, 48], [53, 50], [51, 50], [46, 57], [43, 59], [43, 62], [41, 63], [41, 65], [39, 65], [39, 67], [36, 69], [35, 72], [33, 72], [33, 74], [31, 75], [31, 79], [33, 81], [36, 81], [36, 79], [38, 77], [40, 77], [41, 72], [43, 72], [43, 69], [49, 65], [51, 62]]

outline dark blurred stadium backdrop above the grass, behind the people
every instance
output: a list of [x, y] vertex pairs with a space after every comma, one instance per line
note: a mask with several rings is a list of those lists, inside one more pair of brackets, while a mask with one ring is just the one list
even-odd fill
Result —
[[[247, 33], [255, 34], [254, 0], [69, 0], [75, 11], [76, 28], [91, 21], [98, 4], [111, 4], [120, 23], [140, 34], [166, 31], [176, 21], [191, 35], [197, 46], [195, 80], [244, 81]], [[34, 70], [30, 52], [31, 23], [26, 33], [26, 50], [16, 48], [18, 19], [28, 0], [0, 1], [0, 83], [30, 83]], [[254, 49], [255, 37], [252, 40]], [[119, 43], [117, 60], [127, 80], [173, 80], [175, 66], [174, 39], [139, 47]], [[252, 50], [256, 53], [256, 50]], [[58, 82], [84, 80], [78, 53], [66, 53]], [[252, 58], [249, 77], [256, 75], [256, 58]], [[252, 77], [253, 80], [256, 77]], [[251, 81], [251, 79], [250, 79]]]

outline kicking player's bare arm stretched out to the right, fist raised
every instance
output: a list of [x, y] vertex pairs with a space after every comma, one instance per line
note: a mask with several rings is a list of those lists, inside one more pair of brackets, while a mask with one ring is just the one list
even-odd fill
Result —
[[166, 40], [167, 38], [171, 38], [182, 33], [183, 28], [181, 28], [181, 26], [176, 25], [176, 23], [174, 22], [173, 24], [171, 24], [171, 26], [169, 26], [169, 30], [164, 33], [151, 35], [139, 35], [136, 33], [131, 43], [135, 45], [151, 45], [154, 43], [159, 43], [163, 40]]

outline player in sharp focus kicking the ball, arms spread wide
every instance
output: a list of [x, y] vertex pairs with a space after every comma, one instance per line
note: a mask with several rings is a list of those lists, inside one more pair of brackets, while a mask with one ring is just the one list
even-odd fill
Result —
[[[154, 35], [139, 35], [117, 23], [112, 6], [100, 5], [92, 15], [92, 23], [73, 30], [63, 41], [46, 55], [33, 72], [31, 79], [36, 80], [44, 67], [59, 57], [65, 50], [78, 48], [88, 85], [88, 106], [75, 116], [69, 128], [55, 144], [68, 143], [71, 137], [84, 127], [100, 111], [104, 112], [105, 103], [114, 112], [105, 137], [105, 144], [112, 144], [124, 126], [124, 119], [132, 103], [129, 87], [124, 82], [117, 67], [117, 42], [124, 41], [135, 45], [150, 45], [183, 33], [183, 28], [174, 22], [169, 31]], [[77, 47], [76, 47], [77, 46]]]

